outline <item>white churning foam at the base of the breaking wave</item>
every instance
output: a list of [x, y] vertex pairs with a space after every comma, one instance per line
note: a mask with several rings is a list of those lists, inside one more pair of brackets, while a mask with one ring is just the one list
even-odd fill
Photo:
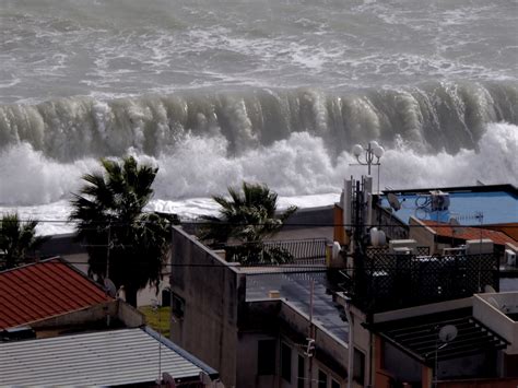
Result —
[[[349, 153], [331, 157], [322, 139], [307, 132], [293, 133], [236, 157], [228, 157], [227, 146], [226, 139], [217, 134], [190, 136], [170, 154], [156, 158], [136, 154], [141, 162], [160, 166], [150, 209], [188, 217], [215, 213], [210, 196], [225, 193], [228, 186], [242, 180], [268, 184], [279, 192], [281, 205], [331, 204], [338, 200], [343, 178], [366, 173], [363, 166], [350, 165], [354, 158]], [[474, 185], [476, 180], [518, 185], [516, 126], [490, 125], [479, 148], [455, 155], [423, 155], [400, 141], [381, 160], [380, 188]], [[72, 230], [71, 224], [63, 223], [70, 193], [81, 185], [81, 175], [98, 169], [92, 158], [69, 164], [54, 162], [26, 143], [2, 151], [0, 166], [0, 181], [9, 183], [0, 186], [0, 212], [17, 210], [24, 217], [61, 221], [42, 224], [39, 231], [45, 234]], [[374, 176], [377, 181], [377, 169]]]

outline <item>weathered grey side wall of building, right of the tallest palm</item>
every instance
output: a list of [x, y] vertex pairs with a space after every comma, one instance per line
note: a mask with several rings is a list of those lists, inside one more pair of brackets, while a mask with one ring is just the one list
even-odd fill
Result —
[[185, 315], [170, 325], [172, 340], [236, 386], [238, 305], [245, 275], [186, 234], [173, 230], [170, 287], [185, 301]]

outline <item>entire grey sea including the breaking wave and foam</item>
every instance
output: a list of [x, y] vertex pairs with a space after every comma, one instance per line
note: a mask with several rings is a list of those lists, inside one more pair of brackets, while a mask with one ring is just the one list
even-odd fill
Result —
[[3, 0], [0, 63], [0, 212], [42, 233], [126, 154], [189, 217], [244, 179], [330, 204], [370, 140], [381, 189], [518, 185], [516, 0]]

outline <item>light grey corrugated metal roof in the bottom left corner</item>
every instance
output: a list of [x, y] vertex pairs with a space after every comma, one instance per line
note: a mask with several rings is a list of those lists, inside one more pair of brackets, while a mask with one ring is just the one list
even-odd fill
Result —
[[153, 383], [164, 372], [196, 378], [202, 371], [215, 372], [143, 329], [0, 343], [1, 386], [116, 386]]

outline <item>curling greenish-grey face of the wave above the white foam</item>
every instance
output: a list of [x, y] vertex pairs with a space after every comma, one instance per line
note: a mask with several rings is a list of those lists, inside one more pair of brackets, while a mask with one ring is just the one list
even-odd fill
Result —
[[[178, 93], [97, 101], [69, 97], [0, 106], [0, 148], [27, 143], [45, 157], [74, 162], [133, 150], [181, 152], [191, 137], [221, 136], [228, 156], [318, 137], [333, 156], [357, 142], [403, 140], [414, 151], [478, 149], [490, 122], [518, 124], [518, 83], [425, 84], [326, 94], [315, 89]], [[195, 152], [196, 154], [199, 152]]]

